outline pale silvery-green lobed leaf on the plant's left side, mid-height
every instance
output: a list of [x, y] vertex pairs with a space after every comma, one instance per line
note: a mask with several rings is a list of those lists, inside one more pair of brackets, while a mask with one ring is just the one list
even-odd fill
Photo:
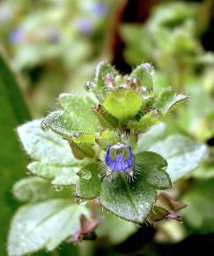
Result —
[[66, 140], [54, 132], [42, 132], [41, 120], [19, 126], [18, 135], [26, 153], [35, 160], [28, 165], [33, 174], [52, 180], [52, 184], [77, 183], [77, 171], [85, 162], [74, 158]]

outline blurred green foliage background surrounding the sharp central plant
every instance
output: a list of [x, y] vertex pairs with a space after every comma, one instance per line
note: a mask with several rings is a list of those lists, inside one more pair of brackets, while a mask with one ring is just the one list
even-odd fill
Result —
[[[214, 3], [212, 0], [0, 1], [0, 255], [18, 207], [12, 185], [26, 176], [15, 128], [55, 109], [62, 92], [85, 94], [100, 60], [122, 74], [154, 65], [155, 90], [173, 86], [188, 104], [167, 122], [207, 144], [203, 164], [171, 193], [188, 203], [183, 222], [128, 225], [107, 216], [98, 239], [33, 255], [213, 255]], [[12, 75], [11, 75], [12, 74]]]

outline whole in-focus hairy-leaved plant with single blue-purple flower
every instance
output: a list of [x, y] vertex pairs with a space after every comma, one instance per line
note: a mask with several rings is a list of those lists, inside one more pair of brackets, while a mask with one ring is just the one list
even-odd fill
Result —
[[[18, 210], [11, 223], [10, 256], [41, 248], [53, 250], [64, 239], [73, 237], [71, 241], [77, 241], [85, 237], [85, 230], [94, 230], [100, 219], [94, 219], [88, 204], [80, 206], [78, 202], [96, 202], [108, 212], [139, 224], [164, 217], [180, 219], [176, 211], [185, 205], [159, 194], [159, 190], [171, 188], [195, 169], [206, 147], [182, 135], [166, 136], [163, 121], [188, 97], [176, 94], [171, 87], [156, 94], [153, 72], [151, 64], [140, 64], [122, 76], [110, 64], [101, 62], [94, 80], [85, 86], [91, 97], [60, 94], [59, 110], [42, 121], [18, 127], [26, 153], [33, 159], [27, 169], [44, 181], [30, 177], [14, 187], [18, 200], [30, 201], [32, 193], [33, 205]], [[45, 180], [57, 190], [66, 189], [54, 195]], [[44, 214], [46, 205], [55, 221]], [[42, 220], [33, 217], [33, 211], [40, 209]], [[26, 218], [28, 214], [34, 225], [27, 226], [22, 220], [22, 215]], [[45, 222], [43, 230], [37, 228], [40, 221]], [[61, 222], [67, 222], [70, 228], [63, 230]], [[22, 243], [18, 242], [18, 232], [23, 234]], [[40, 232], [45, 235], [42, 233], [42, 239], [34, 245]]]

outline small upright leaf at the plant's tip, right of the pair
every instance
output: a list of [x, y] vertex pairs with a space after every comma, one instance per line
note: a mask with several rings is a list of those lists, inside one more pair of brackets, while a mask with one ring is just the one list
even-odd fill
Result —
[[145, 91], [151, 92], [153, 89], [153, 79], [152, 73], [154, 72], [151, 64], [144, 63], [137, 66], [133, 72], [131, 72], [130, 77], [137, 79], [140, 87], [144, 87]]

